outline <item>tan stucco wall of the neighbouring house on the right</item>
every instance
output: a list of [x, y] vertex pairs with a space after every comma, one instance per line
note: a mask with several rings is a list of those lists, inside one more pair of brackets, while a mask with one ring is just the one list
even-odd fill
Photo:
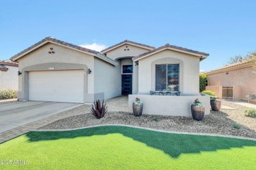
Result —
[[[228, 75], [226, 73], [228, 73]], [[209, 86], [239, 86], [241, 88], [242, 100], [248, 99], [246, 97], [248, 93], [256, 93], [256, 74], [253, 74], [253, 67], [207, 75], [207, 79]]]

